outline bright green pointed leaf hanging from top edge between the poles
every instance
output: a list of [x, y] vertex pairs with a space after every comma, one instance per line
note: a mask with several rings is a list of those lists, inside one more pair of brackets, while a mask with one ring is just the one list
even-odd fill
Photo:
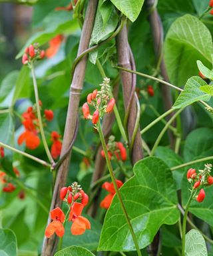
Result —
[[144, 0], [110, 0], [130, 21], [134, 22], [138, 17]]

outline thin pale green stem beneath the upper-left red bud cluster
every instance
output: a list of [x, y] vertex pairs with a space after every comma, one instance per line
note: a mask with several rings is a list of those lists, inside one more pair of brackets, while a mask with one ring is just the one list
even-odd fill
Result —
[[43, 129], [43, 123], [42, 123], [42, 119], [41, 119], [41, 111], [40, 111], [40, 106], [39, 106], [39, 91], [38, 91], [38, 86], [37, 86], [37, 81], [36, 81], [36, 77], [35, 77], [35, 70], [33, 67], [33, 63], [31, 64], [31, 73], [32, 73], [32, 77], [33, 77], [33, 86], [34, 86], [34, 92], [35, 92], [35, 103], [36, 103], [36, 108], [37, 108], [37, 115], [38, 115], [38, 120], [39, 120], [39, 129], [41, 132], [41, 138], [43, 141], [43, 145], [45, 147], [45, 151], [47, 153], [47, 157], [49, 159], [49, 161], [53, 164], [55, 163], [55, 161], [53, 160], [53, 157], [51, 155], [51, 152], [49, 151], [49, 147], [47, 145], [47, 140], [45, 137], [45, 131]]

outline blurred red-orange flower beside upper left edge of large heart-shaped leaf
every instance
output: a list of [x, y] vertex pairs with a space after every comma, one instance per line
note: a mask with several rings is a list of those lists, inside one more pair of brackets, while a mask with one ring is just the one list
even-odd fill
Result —
[[[118, 186], [118, 189], [123, 185], [122, 181], [119, 181], [118, 179], [116, 179], [116, 184]], [[114, 185], [113, 185], [112, 182], [111, 183], [105, 182], [105, 183], [103, 183], [102, 188], [107, 190], [110, 194], [107, 195], [103, 199], [103, 201], [101, 201], [100, 206], [102, 208], [108, 209], [110, 207], [110, 204], [111, 204], [112, 199], [113, 199], [114, 194], [115, 194]]]

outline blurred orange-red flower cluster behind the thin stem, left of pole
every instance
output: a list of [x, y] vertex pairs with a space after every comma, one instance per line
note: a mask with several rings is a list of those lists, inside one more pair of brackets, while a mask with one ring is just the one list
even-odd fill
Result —
[[[42, 109], [42, 103], [39, 101], [40, 108]], [[43, 113], [43, 124], [45, 121], [52, 121], [54, 117], [53, 111], [45, 109]], [[39, 121], [37, 117], [36, 106], [28, 107], [27, 111], [22, 114], [22, 124], [25, 127], [25, 131], [21, 133], [18, 138], [18, 144], [21, 145], [25, 142], [27, 149], [36, 149], [40, 145], [39, 138]], [[59, 154], [60, 155], [60, 154]]]

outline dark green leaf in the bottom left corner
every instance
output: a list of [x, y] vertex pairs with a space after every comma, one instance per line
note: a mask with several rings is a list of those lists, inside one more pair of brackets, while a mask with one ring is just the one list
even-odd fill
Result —
[[0, 241], [1, 256], [17, 255], [17, 240], [11, 229], [0, 229]]

